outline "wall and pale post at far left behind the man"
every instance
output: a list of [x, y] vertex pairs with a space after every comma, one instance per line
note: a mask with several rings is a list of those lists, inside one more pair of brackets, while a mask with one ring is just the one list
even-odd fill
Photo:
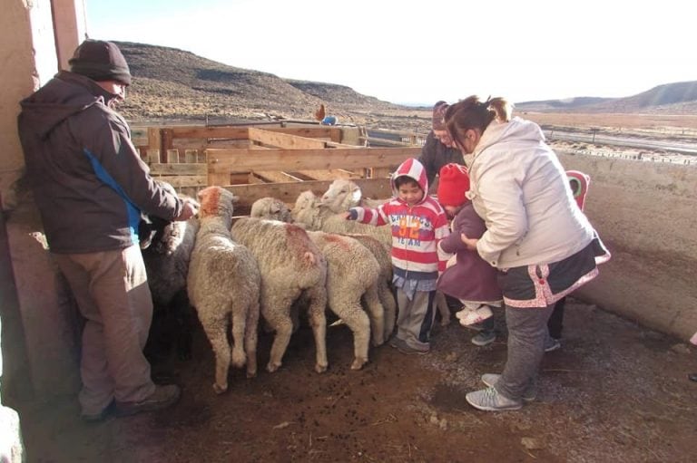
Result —
[[[54, 17], [57, 27], [54, 27]], [[17, 135], [19, 102], [48, 82], [83, 38], [82, 0], [4, 0], [0, 14], [0, 234], [3, 281], [2, 355], [7, 400], [76, 391], [74, 304], [45, 249], [31, 196], [17, 180], [24, 154]], [[82, 24], [82, 25], [81, 25]], [[5, 231], [4, 230], [4, 231]]]

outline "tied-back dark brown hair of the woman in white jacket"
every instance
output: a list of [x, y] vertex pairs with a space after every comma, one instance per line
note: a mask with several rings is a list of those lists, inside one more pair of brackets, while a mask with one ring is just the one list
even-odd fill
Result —
[[504, 98], [489, 97], [486, 101], [472, 95], [465, 100], [451, 104], [446, 111], [446, 129], [450, 138], [459, 146], [464, 146], [465, 132], [470, 129], [486, 130], [491, 121], [511, 120], [513, 105]]

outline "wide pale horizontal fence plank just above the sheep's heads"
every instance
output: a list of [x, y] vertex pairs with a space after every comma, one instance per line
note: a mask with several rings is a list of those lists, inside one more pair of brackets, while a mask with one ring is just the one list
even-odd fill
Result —
[[206, 150], [209, 173], [231, 170], [397, 169], [417, 158], [421, 148], [354, 148], [332, 150]]

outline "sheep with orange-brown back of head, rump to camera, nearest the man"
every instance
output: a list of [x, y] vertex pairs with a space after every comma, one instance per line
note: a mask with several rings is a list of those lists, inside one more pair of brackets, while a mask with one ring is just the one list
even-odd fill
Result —
[[[213, 352], [213, 390], [228, 390], [230, 364], [247, 363], [247, 377], [257, 374], [257, 330], [261, 276], [249, 249], [231, 240], [233, 203], [220, 187], [199, 192], [200, 227], [191, 253], [187, 289]], [[232, 355], [227, 337], [231, 323]]]

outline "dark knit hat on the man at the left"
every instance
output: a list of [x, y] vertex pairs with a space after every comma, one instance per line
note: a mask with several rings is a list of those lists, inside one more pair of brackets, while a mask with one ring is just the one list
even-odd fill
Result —
[[131, 85], [131, 70], [121, 50], [111, 42], [85, 40], [75, 49], [70, 63], [71, 72], [93, 81], [118, 81]]

